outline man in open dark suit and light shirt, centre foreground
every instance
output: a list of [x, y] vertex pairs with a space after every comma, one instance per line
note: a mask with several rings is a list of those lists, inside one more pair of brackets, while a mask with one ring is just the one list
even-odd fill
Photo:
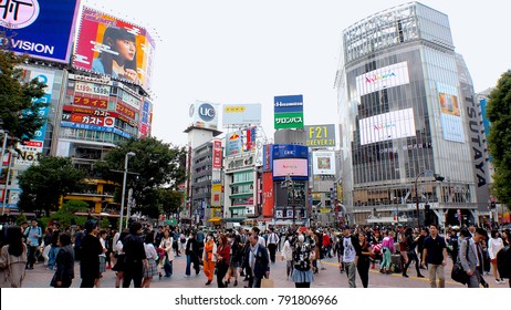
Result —
[[270, 258], [265, 247], [260, 245], [259, 236], [255, 231], [251, 231], [249, 236], [249, 248], [244, 256], [244, 266], [249, 278], [249, 288], [260, 288], [262, 277], [270, 277]]

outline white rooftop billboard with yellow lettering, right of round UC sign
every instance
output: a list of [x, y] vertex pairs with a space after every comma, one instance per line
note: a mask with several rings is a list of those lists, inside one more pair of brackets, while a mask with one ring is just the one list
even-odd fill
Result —
[[261, 124], [261, 104], [225, 104], [222, 124], [223, 127]]

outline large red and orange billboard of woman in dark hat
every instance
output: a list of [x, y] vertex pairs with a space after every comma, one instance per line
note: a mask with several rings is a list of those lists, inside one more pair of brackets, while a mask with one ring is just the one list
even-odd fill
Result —
[[81, 18], [73, 65], [149, 90], [155, 51], [149, 33], [86, 7]]

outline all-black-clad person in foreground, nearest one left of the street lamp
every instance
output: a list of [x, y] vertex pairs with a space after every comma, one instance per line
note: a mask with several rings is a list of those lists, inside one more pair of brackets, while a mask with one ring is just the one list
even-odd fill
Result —
[[85, 236], [80, 248], [80, 276], [82, 278], [81, 288], [93, 288], [96, 279], [100, 278], [100, 255], [103, 247], [97, 235], [97, 223], [87, 220], [85, 223]]

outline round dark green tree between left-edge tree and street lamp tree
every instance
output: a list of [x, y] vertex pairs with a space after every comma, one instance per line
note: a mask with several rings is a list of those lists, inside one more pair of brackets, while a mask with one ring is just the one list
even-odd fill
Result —
[[79, 192], [85, 172], [76, 169], [71, 158], [44, 156], [19, 177], [20, 208], [24, 211], [43, 210], [48, 216], [58, 209], [62, 196]]

